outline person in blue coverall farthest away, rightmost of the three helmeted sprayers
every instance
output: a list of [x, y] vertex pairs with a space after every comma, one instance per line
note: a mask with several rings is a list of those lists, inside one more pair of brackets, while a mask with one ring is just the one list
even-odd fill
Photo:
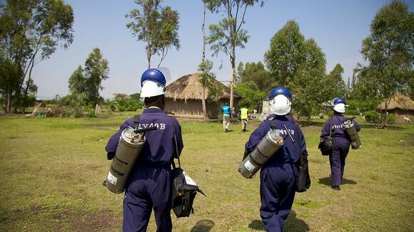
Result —
[[[325, 125], [322, 128], [322, 134], [320, 138], [329, 136], [329, 126], [332, 127], [332, 154], [329, 155], [330, 164], [330, 185], [332, 189], [340, 190], [340, 185], [343, 180], [343, 172], [345, 169], [345, 159], [349, 152], [350, 137], [345, 131], [343, 122], [347, 120], [343, 113], [345, 112], [346, 102], [341, 97], [333, 98], [333, 117], [326, 120]], [[354, 120], [352, 120], [355, 129], [360, 131], [360, 126]]]

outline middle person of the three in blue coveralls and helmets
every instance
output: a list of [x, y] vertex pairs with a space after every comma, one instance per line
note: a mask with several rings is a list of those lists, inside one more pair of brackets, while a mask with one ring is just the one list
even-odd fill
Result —
[[[296, 192], [296, 175], [299, 162], [299, 149], [307, 160], [306, 142], [301, 128], [288, 115], [291, 111], [292, 94], [287, 88], [277, 87], [271, 90], [271, 112], [266, 120], [251, 134], [246, 143], [248, 154], [253, 152], [271, 128], [284, 137], [283, 147], [278, 149], [271, 159], [263, 164], [260, 174], [261, 218], [267, 231], [282, 231], [283, 224], [291, 212]], [[290, 137], [287, 130], [291, 133]], [[297, 137], [301, 137], [298, 144]]]

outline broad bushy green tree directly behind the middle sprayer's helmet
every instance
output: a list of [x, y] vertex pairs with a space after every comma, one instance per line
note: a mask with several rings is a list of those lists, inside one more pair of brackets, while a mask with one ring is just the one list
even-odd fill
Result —
[[318, 44], [312, 38], [306, 41], [298, 24], [288, 21], [271, 38], [265, 62], [276, 85], [292, 91], [293, 109], [298, 118], [311, 120], [325, 100], [322, 86], [326, 60]]

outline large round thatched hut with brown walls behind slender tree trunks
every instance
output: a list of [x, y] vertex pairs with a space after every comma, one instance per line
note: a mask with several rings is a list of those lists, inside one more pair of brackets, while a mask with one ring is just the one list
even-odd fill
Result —
[[[203, 105], [201, 105], [201, 98], [203, 97], [203, 87], [200, 78], [200, 73], [193, 73], [184, 75], [168, 85], [166, 88], [165, 111], [178, 117], [202, 118]], [[221, 105], [230, 102], [230, 89], [218, 80], [214, 80], [213, 85], [218, 90], [218, 94], [213, 100], [206, 101], [206, 110], [209, 118], [216, 119]], [[208, 94], [208, 90], [206, 90], [206, 97]], [[236, 110], [240, 99], [241, 95], [234, 93], [233, 105]]]

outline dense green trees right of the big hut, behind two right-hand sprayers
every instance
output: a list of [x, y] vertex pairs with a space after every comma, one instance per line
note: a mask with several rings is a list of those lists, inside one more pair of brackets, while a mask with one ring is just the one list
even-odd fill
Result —
[[[413, 98], [413, 25], [414, 14], [403, 1], [383, 6], [370, 24], [370, 35], [362, 41], [360, 51], [367, 65], [357, 63], [345, 84], [343, 67], [337, 64], [328, 73], [325, 54], [316, 41], [304, 38], [298, 23], [288, 21], [271, 38], [264, 65], [239, 63], [236, 90], [253, 96], [241, 100], [241, 104], [260, 107], [261, 97], [276, 85], [292, 91], [294, 113], [308, 119], [320, 110], [322, 102], [333, 97], [353, 100], [349, 110], [355, 115], [375, 110], [379, 102], [390, 100], [396, 93]], [[385, 114], [374, 121], [386, 125], [387, 120]]]

